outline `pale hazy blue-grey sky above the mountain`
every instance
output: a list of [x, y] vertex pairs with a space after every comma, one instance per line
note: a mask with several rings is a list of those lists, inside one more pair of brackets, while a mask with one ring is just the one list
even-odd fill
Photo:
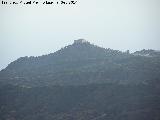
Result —
[[0, 3], [0, 69], [21, 56], [55, 52], [78, 38], [123, 51], [160, 50], [160, 0], [78, 0], [76, 5], [48, 6]]

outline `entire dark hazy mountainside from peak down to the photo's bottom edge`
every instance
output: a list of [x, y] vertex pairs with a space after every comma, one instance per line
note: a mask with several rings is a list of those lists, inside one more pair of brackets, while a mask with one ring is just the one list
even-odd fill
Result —
[[0, 71], [1, 120], [159, 120], [160, 52], [84, 39]]

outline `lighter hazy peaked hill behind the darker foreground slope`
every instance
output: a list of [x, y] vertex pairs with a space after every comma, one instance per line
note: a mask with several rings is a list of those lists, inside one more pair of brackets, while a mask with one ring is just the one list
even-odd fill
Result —
[[129, 54], [83, 39], [55, 53], [21, 57], [0, 72], [1, 82], [22, 86], [148, 84], [159, 79], [160, 52], [142, 50]]

